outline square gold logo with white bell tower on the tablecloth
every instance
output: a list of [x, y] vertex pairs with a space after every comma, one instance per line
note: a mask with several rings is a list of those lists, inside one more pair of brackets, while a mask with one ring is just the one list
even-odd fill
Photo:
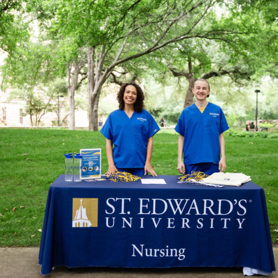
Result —
[[98, 226], [98, 198], [72, 198], [72, 228]]

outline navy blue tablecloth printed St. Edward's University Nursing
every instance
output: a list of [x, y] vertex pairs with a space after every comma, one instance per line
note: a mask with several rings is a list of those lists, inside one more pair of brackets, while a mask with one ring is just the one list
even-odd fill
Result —
[[[146, 178], [146, 177], [142, 177]], [[65, 182], [50, 186], [39, 264], [275, 271], [264, 190], [179, 184]]]

